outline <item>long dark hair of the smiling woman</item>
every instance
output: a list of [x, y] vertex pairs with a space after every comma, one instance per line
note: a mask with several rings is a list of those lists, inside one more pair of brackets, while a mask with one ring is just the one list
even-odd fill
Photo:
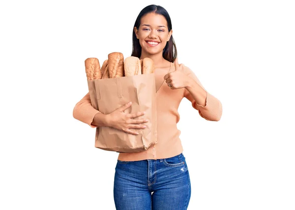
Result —
[[[156, 14], [163, 15], [166, 18], [167, 24], [168, 24], [168, 31], [170, 32], [172, 29], [171, 19], [166, 9], [164, 9], [162, 6], [151, 4], [143, 8], [143, 10], [139, 13], [137, 16], [137, 19], [135, 21], [135, 24], [133, 26], [133, 32], [132, 32], [132, 53], [131, 56], [140, 57], [142, 52], [142, 47], [140, 46], [139, 40], [137, 39], [134, 31], [134, 27], [139, 29], [140, 26], [140, 20], [141, 18], [148, 14], [154, 12]], [[174, 62], [177, 58], [177, 49], [176, 44], [173, 39], [173, 36], [171, 35], [169, 41], [167, 42], [164, 50], [163, 50], [163, 57], [170, 61]]]

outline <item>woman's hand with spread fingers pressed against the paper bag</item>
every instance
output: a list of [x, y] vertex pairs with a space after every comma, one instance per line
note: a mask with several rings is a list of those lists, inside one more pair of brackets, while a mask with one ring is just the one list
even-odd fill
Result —
[[[145, 112], [137, 112], [137, 113], [124, 113], [124, 110], [131, 106], [131, 102], [120, 106], [115, 111], [107, 114], [108, 118], [108, 126], [118, 129], [119, 131], [124, 131], [126, 133], [130, 133], [133, 135], [138, 135], [138, 132], [131, 131], [130, 129], [145, 129], [147, 128], [143, 123], [147, 123], [146, 119], [133, 119], [145, 114]], [[141, 125], [139, 125], [141, 124]]]

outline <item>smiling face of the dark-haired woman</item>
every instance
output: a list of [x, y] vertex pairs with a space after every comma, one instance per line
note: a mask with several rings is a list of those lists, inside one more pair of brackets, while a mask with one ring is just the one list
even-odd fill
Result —
[[134, 27], [136, 37], [142, 47], [142, 54], [163, 52], [172, 30], [168, 32], [167, 21], [163, 15], [148, 13], [141, 18], [139, 29]]

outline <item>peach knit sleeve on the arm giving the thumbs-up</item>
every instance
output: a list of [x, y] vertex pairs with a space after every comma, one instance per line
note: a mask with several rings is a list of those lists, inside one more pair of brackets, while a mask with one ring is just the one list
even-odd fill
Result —
[[184, 97], [187, 98], [192, 103], [192, 106], [199, 111], [201, 117], [209, 121], [219, 121], [222, 115], [221, 102], [213, 95], [208, 93], [208, 91], [203, 87], [200, 80], [197, 78], [197, 76], [191, 69], [185, 67], [185, 71], [188, 77], [194, 79], [206, 91], [206, 105], [198, 105], [186, 88], [184, 88]]

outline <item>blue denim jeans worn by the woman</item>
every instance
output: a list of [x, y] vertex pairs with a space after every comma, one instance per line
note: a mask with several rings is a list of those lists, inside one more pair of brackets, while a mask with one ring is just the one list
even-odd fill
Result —
[[116, 210], [186, 210], [191, 196], [183, 154], [165, 159], [117, 160]]

